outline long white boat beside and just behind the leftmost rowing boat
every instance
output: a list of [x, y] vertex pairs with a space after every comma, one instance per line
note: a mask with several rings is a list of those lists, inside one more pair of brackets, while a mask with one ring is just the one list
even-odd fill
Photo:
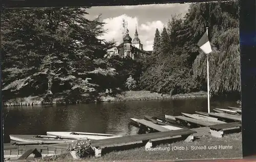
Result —
[[102, 139], [122, 137], [121, 135], [116, 135], [116, 134], [72, 132], [72, 131], [48, 131], [46, 133], [48, 136], [58, 136], [61, 138], [77, 138], [77, 139], [87, 138], [90, 140], [102, 140]]

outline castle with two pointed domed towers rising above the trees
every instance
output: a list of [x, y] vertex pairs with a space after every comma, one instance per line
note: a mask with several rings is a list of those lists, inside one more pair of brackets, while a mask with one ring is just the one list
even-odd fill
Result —
[[143, 50], [143, 44], [140, 42], [137, 26], [134, 34], [134, 39], [129, 35], [129, 30], [126, 29], [123, 42], [118, 46], [108, 50], [108, 58], [119, 56], [121, 58], [138, 59], [151, 55], [152, 51]]

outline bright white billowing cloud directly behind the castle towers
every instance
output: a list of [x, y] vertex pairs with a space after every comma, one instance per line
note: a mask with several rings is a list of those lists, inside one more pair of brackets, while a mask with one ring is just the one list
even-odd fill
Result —
[[103, 20], [106, 24], [104, 25], [104, 29], [107, 30], [105, 35], [101, 36], [101, 39], [105, 39], [107, 41], [115, 40], [117, 41], [117, 45], [122, 42], [122, 19], [125, 19], [128, 23], [129, 35], [134, 38], [134, 33], [137, 24], [137, 30], [139, 34], [139, 39], [143, 44], [144, 50], [153, 50], [153, 43], [156, 29], [158, 28], [160, 31], [162, 30], [164, 23], [162, 21], [152, 21], [146, 22], [139, 25], [139, 19], [137, 17], [130, 17], [125, 14], [106, 18]]

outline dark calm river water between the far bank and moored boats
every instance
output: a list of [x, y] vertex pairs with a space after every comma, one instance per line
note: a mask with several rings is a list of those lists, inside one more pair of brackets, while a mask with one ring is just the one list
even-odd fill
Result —
[[[237, 106], [235, 101], [211, 100], [211, 110]], [[207, 99], [103, 102], [67, 106], [23, 106], [4, 108], [4, 140], [9, 134], [46, 134], [46, 131], [82, 131], [132, 135], [138, 129], [130, 118], [207, 112]]]

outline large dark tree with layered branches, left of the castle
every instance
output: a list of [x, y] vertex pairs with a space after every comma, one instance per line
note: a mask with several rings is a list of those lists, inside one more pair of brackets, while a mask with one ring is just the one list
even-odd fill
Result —
[[79, 98], [97, 90], [93, 76], [114, 75], [102, 60], [113, 44], [98, 39], [103, 23], [86, 14], [86, 8], [6, 9], [1, 17], [5, 94]]

